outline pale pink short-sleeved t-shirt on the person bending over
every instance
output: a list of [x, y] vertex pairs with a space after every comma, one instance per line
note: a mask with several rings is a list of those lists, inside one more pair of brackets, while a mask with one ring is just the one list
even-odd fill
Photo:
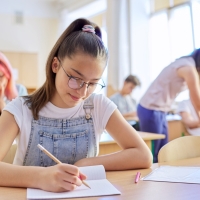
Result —
[[194, 59], [182, 57], [165, 67], [140, 100], [141, 106], [149, 110], [170, 111], [177, 95], [187, 89], [185, 80], [177, 74], [177, 69], [184, 66], [195, 67]]

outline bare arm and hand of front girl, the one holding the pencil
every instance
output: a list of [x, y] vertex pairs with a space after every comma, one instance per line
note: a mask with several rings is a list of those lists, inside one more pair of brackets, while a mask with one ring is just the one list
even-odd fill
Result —
[[52, 167], [17, 166], [1, 162], [9, 151], [19, 127], [7, 111], [0, 117], [0, 186], [32, 187], [47, 191], [61, 192], [73, 190], [81, 185], [78, 178], [86, 177], [76, 166], [58, 164]]

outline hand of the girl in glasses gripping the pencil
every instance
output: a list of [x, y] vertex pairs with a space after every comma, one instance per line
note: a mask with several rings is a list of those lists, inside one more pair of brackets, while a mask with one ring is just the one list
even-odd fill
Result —
[[77, 186], [82, 185], [81, 180], [86, 179], [86, 176], [80, 173], [78, 167], [68, 164], [41, 168], [39, 177], [38, 187], [51, 192], [74, 190]]

